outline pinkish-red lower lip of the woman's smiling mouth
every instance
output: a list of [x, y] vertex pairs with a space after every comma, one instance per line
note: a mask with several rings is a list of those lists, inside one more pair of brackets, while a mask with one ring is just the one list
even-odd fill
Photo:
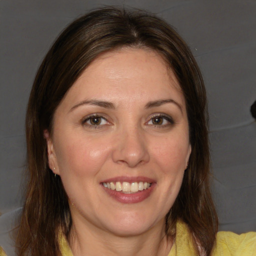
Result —
[[130, 193], [126, 194], [121, 191], [116, 191], [109, 189], [107, 187], [104, 187], [102, 185], [102, 188], [110, 195], [112, 198], [114, 198], [118, 202], [122, 203], [137, 203], [145, 200], [152, 192], [154, 188], [155, 183], [152, 183], [151, 186], [147, 189], [144, 189], [142, 191], [137, 191], [136, 193]]

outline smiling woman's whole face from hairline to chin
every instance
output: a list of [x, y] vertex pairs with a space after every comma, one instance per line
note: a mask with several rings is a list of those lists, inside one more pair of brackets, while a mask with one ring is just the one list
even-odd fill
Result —
[[118, 235], [164, 226], [190, 144], [183, 94], [156, 52], [125, 48], [96, 58], [45, 137], [74, 224]]

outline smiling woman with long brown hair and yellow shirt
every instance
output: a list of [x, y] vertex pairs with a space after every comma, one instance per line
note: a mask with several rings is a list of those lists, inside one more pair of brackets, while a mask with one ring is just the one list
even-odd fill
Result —
[[35, 77], [26, 140], [18, 255], [255, 252], [253, 233], [217, 234], [203, 81], [158, 17], [107, 7], [71, 23]]

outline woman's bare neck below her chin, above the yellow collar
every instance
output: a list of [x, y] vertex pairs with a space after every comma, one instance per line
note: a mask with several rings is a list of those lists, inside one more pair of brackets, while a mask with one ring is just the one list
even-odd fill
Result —
[[172, 246], [171, 237], [165, 234], [164, 219], [149, 230], [131, 236], [119, 236], [88, 223], [83, 225], [79, 221], [73, 221], [69, 237], [74, 256], [167, 256]]

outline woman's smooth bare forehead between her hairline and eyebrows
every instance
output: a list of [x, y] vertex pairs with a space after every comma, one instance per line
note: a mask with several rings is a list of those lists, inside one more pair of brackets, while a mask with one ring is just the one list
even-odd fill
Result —
[[100, 54], [66, 95], [70, 100], [96, 97], [116, 102], [170, 96], [184, 104], [180, 85], [160, 54], [131, 47]]

